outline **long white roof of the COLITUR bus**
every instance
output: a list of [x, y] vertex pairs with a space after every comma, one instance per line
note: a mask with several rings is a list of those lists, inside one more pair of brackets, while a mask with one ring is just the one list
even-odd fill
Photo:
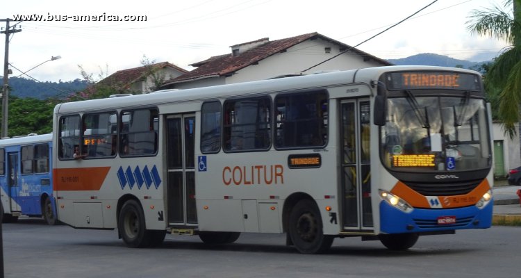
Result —
[[250, 81], [245, 83], [215, 85], [185, 90], [160, 90], [150, 94], [132, 95], [129, 97], [113, 97], [106, 99], [74, 101], [58, 104], [54, 109], [54, 113], [63, 115], [69, 113], [78, 113], [78, 111], [103, 111], [113, 108], [151, 106], [155, 104], [176, 103], [183, 101], [210, 101], [220, 99], [222, 97], [239, 97], [245, 95], [263, 94], [266, 92], [289, 92], [310, 88], [323, 88], [326, 86], [329, 87], [331, 85], [345, 85], [349, 83], [368, 83], [369, 81], [377, 80], [384, 72], [396, 72], [404, 70], [452, 70], [479, 74], [478, 72], [474, 72], [472, 70], [463, 70], [453, 67], [368, 67], [359, 70], [346, 70], [340, 72], [292, 76], [282, 79]]

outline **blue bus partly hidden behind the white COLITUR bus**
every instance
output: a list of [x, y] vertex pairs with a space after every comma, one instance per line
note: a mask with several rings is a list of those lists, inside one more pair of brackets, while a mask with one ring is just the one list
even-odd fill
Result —
[[0, 140], [2, 222], [26, 215], [56, 224], [51, 154], [51, 133]]

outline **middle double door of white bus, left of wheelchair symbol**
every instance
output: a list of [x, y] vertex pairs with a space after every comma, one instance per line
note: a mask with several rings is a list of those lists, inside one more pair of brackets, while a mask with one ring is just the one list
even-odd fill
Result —
[[169, 227], [195, 227], [195, 115], [167, 115], [165, 122], [168, 224]]

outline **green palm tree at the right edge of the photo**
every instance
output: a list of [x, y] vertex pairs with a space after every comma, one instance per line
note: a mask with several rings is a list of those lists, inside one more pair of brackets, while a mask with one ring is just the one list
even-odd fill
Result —
[[514, 124], [520, 117], [521, 104], [521, 0], [504, 1], [486, 10], [472, 10], [467, 28], [470, 33], [504, 40], [509, 47], [495, 58], [484, 82], [488, 92], [499, 92], [499, 120], [504, 132], [515, 136]]

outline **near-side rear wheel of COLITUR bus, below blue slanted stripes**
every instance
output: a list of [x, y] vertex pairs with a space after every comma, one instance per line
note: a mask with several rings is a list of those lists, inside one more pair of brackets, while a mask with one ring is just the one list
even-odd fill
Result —
[[151, 236], [144, 226], [144, 213], [140, 204], [133, 199], [126, 201], [119, 212], [118, 223], [124, 243], [133, 248], [149, 247]]

